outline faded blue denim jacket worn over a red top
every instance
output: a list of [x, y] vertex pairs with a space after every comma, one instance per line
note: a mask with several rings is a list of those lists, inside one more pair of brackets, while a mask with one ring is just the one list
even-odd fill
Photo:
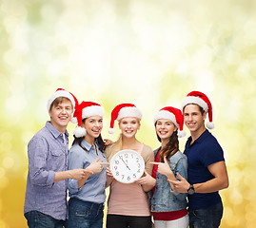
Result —
[[[160, 148], [154, 151], [155, 157]], [[177, 151], [169, 157], [168, 165], [170, 166], [175, 178], [179, 173], [187, 180], [187, 156], [181, 151]], [[152, 212], [170, 212], [186, 209], [187, 193], [178, 193], [170, 188], [167, 176], [157, 172], [156, 186], [154, 195], [151, 198]]]

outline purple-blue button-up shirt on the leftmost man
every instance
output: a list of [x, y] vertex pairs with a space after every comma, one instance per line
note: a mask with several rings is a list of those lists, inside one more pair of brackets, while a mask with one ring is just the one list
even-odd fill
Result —
[[53, 180], [55, 172], [68, 170], [68, 137], [68, 131], [64, 136], [47, 122], [46, 126], [30, 140], [24, 213], [36, 210], [52, 218], [67, 218], [68, 181], [53, 182]]

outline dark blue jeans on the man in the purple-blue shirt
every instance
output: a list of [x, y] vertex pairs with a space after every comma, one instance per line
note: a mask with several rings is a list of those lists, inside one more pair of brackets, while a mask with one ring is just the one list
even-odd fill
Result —
[[52, 218], [39, 211], [30, 211], [24, 214], [30, 228], [63, 228], [64, 220]]

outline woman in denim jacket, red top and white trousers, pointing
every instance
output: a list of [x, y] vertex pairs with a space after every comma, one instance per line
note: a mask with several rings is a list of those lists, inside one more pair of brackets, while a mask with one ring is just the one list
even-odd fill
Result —
[[182, 112], [166, 106], [157, 112], [154, 123], [161, 146], [154, 151], [152, 177], [147, 175], [137, 182], [146, 181], [148, 187], [153, 186], [151, 212], [155, 228], [187, 228], [187, 194], [173, 191], [167, 181], [179, 180], [177, 173], [187, 179], [187, 157], [179, 150], [178, 141], [178, 137], [186, 135]]

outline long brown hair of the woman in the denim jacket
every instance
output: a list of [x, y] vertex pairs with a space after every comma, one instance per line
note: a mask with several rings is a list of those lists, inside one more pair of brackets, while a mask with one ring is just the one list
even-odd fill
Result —
[[[156, 126], [156, 123], [155, 123]], [[159, 142], [161, 142], [161, 138], [156, 133], [157, 139]], [[169, 137], [169, 140], [164, 148], [161, 148], [159, 157], [160, 161], [164, 162], [164, 157], [167, 156], [167, 159], [169, 156], [175, 154], [179, 150], [179, 141], [178, 141], [178, 130], [173, 131], [172, 135]]]

